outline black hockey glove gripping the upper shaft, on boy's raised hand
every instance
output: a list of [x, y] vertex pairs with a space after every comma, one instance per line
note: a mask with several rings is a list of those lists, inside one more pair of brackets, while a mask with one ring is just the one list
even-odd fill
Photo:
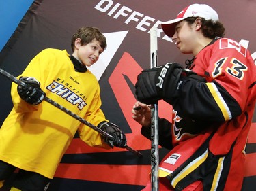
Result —
[[18, 86], [20, 98], [32, 105], [38, 105], [44, 100], [45, 93], [40, 88], [40, 82], [33, 77], [20, 77], [27, 86]]

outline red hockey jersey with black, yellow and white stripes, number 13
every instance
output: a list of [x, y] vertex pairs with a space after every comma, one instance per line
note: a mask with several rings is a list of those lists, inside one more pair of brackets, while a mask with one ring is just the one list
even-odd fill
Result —
[[[194, 58], [192, 70], [205, 81], [180, 77], [173, 97], [171, 152], [160, 177], [182, 190], [197, 180], [204, 190], [241, 190], [244, 148], [256, 100], [255, 63], [232, 39], [214, 39]], [[164, 121], [164, 122], [162, 122]], [[163, 133], [159, 134], [160, 143]], [[166, 143], [165, 145], [168, 145]]]

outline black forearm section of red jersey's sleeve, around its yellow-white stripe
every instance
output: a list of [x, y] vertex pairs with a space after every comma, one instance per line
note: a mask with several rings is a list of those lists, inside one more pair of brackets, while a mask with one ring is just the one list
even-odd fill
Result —
[[[232, 116], [240, 115], [242, 111], [238, 102], [220, 84], [216, 82], [214, 84], [229, 107]], [[179, 90], [176, 90], [170, 99], [173, 100], [173, 109], [182, 118], [201, 122], [225, 122], [221, 109], [204, 82], [182, 76]]]

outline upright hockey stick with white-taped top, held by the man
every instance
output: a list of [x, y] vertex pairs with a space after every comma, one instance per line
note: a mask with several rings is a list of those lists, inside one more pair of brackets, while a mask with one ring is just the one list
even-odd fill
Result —
[[[157, 66], [157, 29], [150, 29], [150, 68]], [[159, 190], [158, 102], [151, 108], [151, 190]]]

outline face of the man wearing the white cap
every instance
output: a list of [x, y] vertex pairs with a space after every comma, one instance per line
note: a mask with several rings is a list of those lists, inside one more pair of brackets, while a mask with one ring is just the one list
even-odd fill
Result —
[[192, 54], [195, 48], [196, 33], [194, 25], [189, 25], [188, 22], [182, 20], [175, 27], [175, 34], [172, 39], [175, 41], [177, 48], [180, 49], [180, 52], [184, 54]]

